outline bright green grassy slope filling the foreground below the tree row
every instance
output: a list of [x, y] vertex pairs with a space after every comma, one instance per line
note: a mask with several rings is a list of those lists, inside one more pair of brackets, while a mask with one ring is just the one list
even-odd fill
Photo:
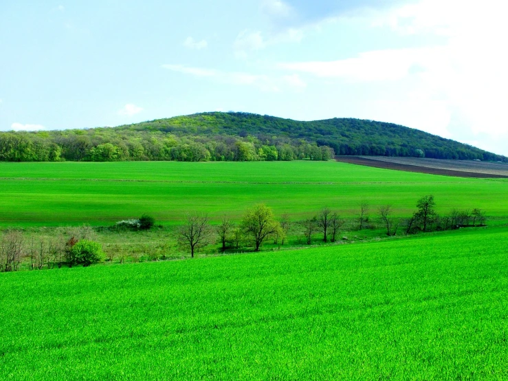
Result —
[[0, 274], [0, 378], [506, 379], [507, 237]]

